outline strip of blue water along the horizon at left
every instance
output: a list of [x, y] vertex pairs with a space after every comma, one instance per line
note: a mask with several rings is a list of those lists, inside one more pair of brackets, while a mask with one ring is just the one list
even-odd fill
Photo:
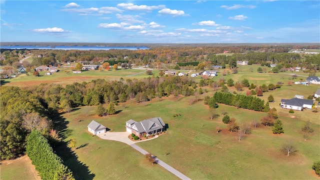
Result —
[[62, 50], [109, 50], [109, 49], [128, 49], [128, 50], [137, 50], [137, 49], [148, 49], [145, 46], [142, 47], [133, 47], [133, 46], [23, 46], [23, 45], [12, 45], [12, 46], [0, 46], [0, 48], [9, 48], [9, 49], [62, 49]]

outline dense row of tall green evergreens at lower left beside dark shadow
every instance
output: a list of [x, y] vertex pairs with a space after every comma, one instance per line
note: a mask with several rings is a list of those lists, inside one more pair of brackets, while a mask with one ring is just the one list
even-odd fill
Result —
[[35, 165], [41, 179], [74, 179], [72, 172], [62, 164], [48, 140], [38, 131], [32, 130], [26, 142], [26, 153]]

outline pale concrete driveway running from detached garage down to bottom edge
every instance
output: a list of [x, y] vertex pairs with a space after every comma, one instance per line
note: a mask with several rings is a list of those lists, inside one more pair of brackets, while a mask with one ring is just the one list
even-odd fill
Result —
[[[129, 132], [104, 132], [104, 133], [100, 133], [98, 134], [98, 136], [102, 139], [107, 139], [107, 140], [116, 140], [116, 141], [120, 141], [123, 143], [126, 143], [128, 145], [130, 145], [132, 148], [134, 148], [135, 150], [139, 151], [140, 153], [147, 154], [149, 152], [147, 152], [146, 150], [144, 150], [143, 148], [137, 146], [136, 142], [142, 142], [142, 141], [146, 141], [146, 140], [152, 140], [156, 137], [158, 137], [158, 135], [155, 135], [152, 138], [149, 139], [145, 139], [145, 140], [139, 140], [139, 141], [132, 141], [128, 138], [128, 135], [130, 135]], [[177, 177], [179, 177], [180, 179], [190, 179], [189, 177], [187, 177], [186, 175], [182, 174], [181, 172], [179, 172], [178, 170], [176, 170], [175, 168], [173, 168], [172, 166], [170, 166], [169, 164], [163, 162], [162, 160], [156, 158], [157, 164], [159, 164], [160, 166], [162, 166], [163, 168], [165, 168], [166, 170], [170, 171], [171, 173], [173, 173], [174, 175], [176, 175]]]

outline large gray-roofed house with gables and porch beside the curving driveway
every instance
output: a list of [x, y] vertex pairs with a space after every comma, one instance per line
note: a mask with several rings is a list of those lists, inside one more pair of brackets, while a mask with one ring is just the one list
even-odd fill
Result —
[[140, 122], [130, 119], [125, 122], [125, 129], [127, 132], [134, 133], [138, 137], [143, 137], [144, 135], [148, 136], [162, 132], [165, 130], [165, 124], [161, 117], [153, 117]]

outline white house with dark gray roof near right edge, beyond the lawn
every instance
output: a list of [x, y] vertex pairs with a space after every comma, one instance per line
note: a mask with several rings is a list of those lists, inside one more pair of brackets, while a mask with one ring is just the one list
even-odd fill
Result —
[[291, 99], [281, 99], [280, 107], [285, 109], [293, 110], [303, 110], [303, 108], [312, 109], [313, 100], [291, 98]]

